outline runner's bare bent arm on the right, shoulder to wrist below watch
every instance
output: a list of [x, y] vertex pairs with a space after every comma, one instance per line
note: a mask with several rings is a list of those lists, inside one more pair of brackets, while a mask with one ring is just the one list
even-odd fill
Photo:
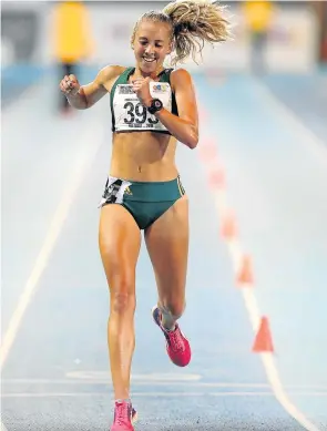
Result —
[[185, 69], [171, 74], [172, 90], [175, 92], [178, 116], [162, 109], [155, 116], [180, 142], [195, 148], [198, 142], [198, 115], [192, 78]]

